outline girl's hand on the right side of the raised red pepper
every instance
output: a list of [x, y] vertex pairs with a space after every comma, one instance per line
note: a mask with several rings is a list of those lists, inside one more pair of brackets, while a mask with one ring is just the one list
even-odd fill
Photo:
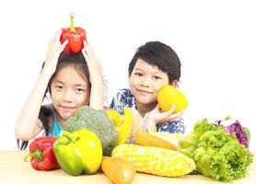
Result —
[[89, 81], [91, 85], [102, 81], [102, 69], [99, 59], [96, 57], [95, 52], [93, 51], [91, 44], [88, 41], [84, 41], [84, 48], [82, 50], [84, 57], [87, 61], [88, 71], [89, 71]]

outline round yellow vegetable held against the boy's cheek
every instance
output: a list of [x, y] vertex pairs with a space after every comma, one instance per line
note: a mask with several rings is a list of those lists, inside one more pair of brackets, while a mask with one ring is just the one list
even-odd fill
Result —
[[163, 86], [157, 93], [157, 101], [162, 111], [168, 111], [175, 105], [174, 112], [186, 109], [189, 106], [188, 99], [175, 86]]

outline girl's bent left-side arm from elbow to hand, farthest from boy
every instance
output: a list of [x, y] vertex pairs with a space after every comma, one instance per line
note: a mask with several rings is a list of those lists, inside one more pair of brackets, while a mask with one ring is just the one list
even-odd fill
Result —
[[63, 45], [60, 44], [60, 36], [62, 31], [58, 30], [52, 40], [49, 42], [46, 54], [45, 64], [41, 71], [36, 85], [33, 87], [21, 109], [15, 125], [15, 133], [19, 140], [30, 140], [41, 132], [41, 121], [39, 113], [44, 93], [47, 89], [49, 80], [54, 74], [60, 53], [64, 50], [67, 41]]

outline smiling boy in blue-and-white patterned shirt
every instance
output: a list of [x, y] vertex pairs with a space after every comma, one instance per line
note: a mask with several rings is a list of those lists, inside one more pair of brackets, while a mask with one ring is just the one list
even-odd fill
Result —
[[183, 110], [173, 113], [162, 112], [157, 104], [157, 92], [165, 85], [178, 86], [180, 79], [180, 59], [168, 45], [150, 41], [142, 45], [129, 64], [130, 89], [121, 89], [112, 99], [111, 109], [123, 114], [124, 107], [137, 109], [144, 117], [145, 131], [184, 133], [185, 126], [180, 121]]

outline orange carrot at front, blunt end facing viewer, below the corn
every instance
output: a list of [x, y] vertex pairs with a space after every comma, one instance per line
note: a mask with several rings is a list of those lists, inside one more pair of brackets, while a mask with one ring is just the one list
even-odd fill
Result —
[[136, 174], [133, 163], [122, 157], [103, 156], [101, 169], [115, 184], [130, 184]]

